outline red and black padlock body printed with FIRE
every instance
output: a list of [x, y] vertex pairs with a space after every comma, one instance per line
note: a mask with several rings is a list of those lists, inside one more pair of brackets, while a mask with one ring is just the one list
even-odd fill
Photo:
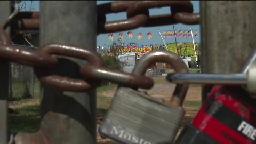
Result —
[[242, 87], [215, 86], [191, 124], [219, 143], [256, 143], [255, 106]]

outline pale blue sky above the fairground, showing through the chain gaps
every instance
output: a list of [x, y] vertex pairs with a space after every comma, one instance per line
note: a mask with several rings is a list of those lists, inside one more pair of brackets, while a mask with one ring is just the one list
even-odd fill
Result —
[[[97, 1], [98, 4], [102, 3], [108, 3], [111, 1]], [[26, 9], [22, 9], [21, 11], [39, 11], [39, 3], [40, 1], [26, 1]], [[199, 1], [191, 1], [194, 7], [194, 13], [199, 12]], [[21, 7], [22, 3], [20, 3]], [[24, 5], [23, 5], [24, 7]], [[32, 8], [32, 9], [31, 9]], [[161, 8], [154, 8], [154, 9], [149, 9], [149, 14], [150, 15], [158, 15], [158, 14], [167, 14], [170, 13], [170, 7], [161, 7]], [[113, 20], [122, 20], [126, 19], [126, 13], [125, 12], [120, 12], [120, 13], [111, 13], [106, 15], [107, 21], [113, 21]], [[183, 24], [175, 24], [175, 25], [166, 25], [166, 26], [156, 26], [156, 27], [140, 27], [137, 29], [133, 29], [133, 38], [129, 38], [127, 32], [130, 30], [126, 31], [118, 31], [114, 34], [114, 40], [117, 41], [119, 33], [123, 33], [123, 40], [122, 43], [138, 43], [138, 45], [150, 45], [150, 44], [161, 44], [163, 45], [164, 42], [167, 43], [175, 43], [174, 37], [172, 38], [163, 38], [164, 42], [159, 35], [159, 31], [162, 33], [164, 30], [172, 30], [173, 31], [173, 26], [177, 30], [177, 33], [179, 30], [190, 30], [190, 28], [193, 30], [193, 34], [195, 33], [195, 30], [198, 31], [198, 37], [194, 36], [194, 42], [195, 43], [200, 43], [200, 27], [199, 25], [183, 25]], [[138, 33], [142, 33], [142, 39], [139, 40], [137, 38]], [[148, 39], [147, 33], [151, 32], [152, 33], [152, 39]], [[109, 33], [110, 34], [110, 33]], [[177, 42], [193, 42], [192, 38], [177, 38]], [[97, 46], [104, 46], [108, 47], [113, 43], [113, 41], [110, 41], [108, 38], [108, 34], [99, 34], [97, 36]]]

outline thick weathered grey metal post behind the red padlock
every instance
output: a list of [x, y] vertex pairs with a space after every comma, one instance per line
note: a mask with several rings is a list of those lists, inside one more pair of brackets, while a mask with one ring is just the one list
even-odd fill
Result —
[[[238, 73], [256, 45], [255, 1], [201, 1], [202, 73]], [[202, 87], [202, 101], [212, 86]]]

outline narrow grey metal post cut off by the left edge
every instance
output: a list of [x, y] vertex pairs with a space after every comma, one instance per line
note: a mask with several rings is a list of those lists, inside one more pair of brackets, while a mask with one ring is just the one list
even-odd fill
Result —
[[[11, 1], [1, 1], [0, 7], [0, 23], [2, 25], [11, 13]], [[10, 34], [10, 29], [7, 30]], [[3, 66], [0, 66], [0, 144], [5, 144], [8, 141], [8, 95], [9, 62], [5, 62]]]

